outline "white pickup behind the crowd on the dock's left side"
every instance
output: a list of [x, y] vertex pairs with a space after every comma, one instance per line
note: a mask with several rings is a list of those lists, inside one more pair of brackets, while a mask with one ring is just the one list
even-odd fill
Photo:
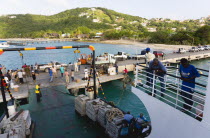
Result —
[[48, 68], [52, 68], [53, 66], [56, 67], [56, 69], [59, 69], [61, 66], [66, 68], [68, 65], [63, 64], [63, 63], [59, 63], [59, 62], [50, 62], [48, 64], [39, 64], [38, 65], [39, 70], [44, 71], [44, 72], [48, 72]]

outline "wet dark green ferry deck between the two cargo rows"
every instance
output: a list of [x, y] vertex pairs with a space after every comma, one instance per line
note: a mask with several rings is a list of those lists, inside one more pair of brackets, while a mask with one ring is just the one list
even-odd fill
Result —
[[34, 138], [106, 138], [104, 129], [75, 112], [74, 96], [65, 86], [42, 88], [42, 101], [37, 103], [34, 90], [30, 90], [28, 109], [35, 121]]

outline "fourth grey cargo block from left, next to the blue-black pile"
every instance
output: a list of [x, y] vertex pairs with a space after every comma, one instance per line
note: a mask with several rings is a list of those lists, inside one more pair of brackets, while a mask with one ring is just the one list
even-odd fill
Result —
[[122, 127], [122, 121], [123, 117], [117, 116], [113, 118], [113, 120], [107, 121], [106, 124], [106, 133], [111, 137], [111, 138], [118, 138], [120, 135], [120, 130]]

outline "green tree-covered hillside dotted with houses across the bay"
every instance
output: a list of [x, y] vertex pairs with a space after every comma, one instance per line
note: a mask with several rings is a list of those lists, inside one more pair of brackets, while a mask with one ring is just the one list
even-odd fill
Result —
[[[0, 16], [0, 38], [136, 39], [150, 43], [209, 44], [210, 17], [198, 20], [145, 19], [113, 10], [76, 8], [51, 16]], [[57, 34], [57, 35], [55, 35]], [[62, 35], [63, 34], [63, 35]], [[85, 34], [85, 35], [84, 35]]]

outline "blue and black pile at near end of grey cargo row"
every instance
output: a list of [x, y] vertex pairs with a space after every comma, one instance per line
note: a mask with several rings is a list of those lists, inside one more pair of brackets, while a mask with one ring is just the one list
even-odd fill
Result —
[[130, 112], [124, 114], [120, 136], [121, 137], [146, 137], [151, 131], [150, 122], [140, 113], [134, 118]]

